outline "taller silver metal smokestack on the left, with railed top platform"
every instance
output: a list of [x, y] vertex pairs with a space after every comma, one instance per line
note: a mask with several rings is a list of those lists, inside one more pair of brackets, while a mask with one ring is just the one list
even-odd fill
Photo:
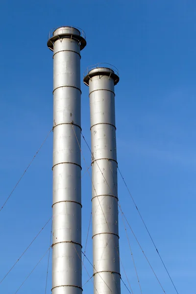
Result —
[[[52, 294], [82, 294], [80, 50], [84, 32], [62, 26], [49, 35], [53, 51]], [[74, 132], [73, 132], [74, 128]]]

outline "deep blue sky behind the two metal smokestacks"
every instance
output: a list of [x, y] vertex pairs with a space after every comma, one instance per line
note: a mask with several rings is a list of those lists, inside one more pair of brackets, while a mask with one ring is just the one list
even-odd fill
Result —
[[[81, 80], [88, 65], [119, 69], [116, 125], [119, 168], [179, 294], [196, 293], [196, 1], [0, 0], [0, 206], [52, 127], [49, 30], [86, 32]], [[88, 88], [81, 82], [82, 130], [90, 144]], [[91, 156], [82, 141], [90, 166]], [[0, 211], [0, 280], [51, 216], [52, 133]], [[82, 161], [83, 171], [86, 165]], [[165, 292], [172, 283], [119, 176], [119, 199]], [[82, 242], [91, 213], [91, 181], [82, 178]], [[120, 253], [134, 294], [140, 294], [120, 219]], [[0, 284], [15, 294], [49, 248], [51, 221]], [[163, 293], [127, 228], [143, 294]], [[92, 230], [86, 254], [92, 261]], [[45, 293], [48, 255], [18, 293]], [[92, 275], [92, 267], [85, 260]], [[121, 269], [122, 278], [128, 286]], [[88, 280], [83, 268], [83, 284]], [[47, 294], [51, 289], [51, 259]], [[92, 293], [88, 282], [83, 293]], [[122, 284], [122, 293], [128, 294]]]

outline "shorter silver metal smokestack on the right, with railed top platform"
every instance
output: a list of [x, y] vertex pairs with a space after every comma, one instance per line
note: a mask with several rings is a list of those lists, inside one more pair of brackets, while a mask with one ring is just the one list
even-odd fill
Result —
[[118, 71], [100, 64], [88, 68], [84, 77], [91, 112], [95, 294], [121, 293], [114, 94], [118, 82]]

